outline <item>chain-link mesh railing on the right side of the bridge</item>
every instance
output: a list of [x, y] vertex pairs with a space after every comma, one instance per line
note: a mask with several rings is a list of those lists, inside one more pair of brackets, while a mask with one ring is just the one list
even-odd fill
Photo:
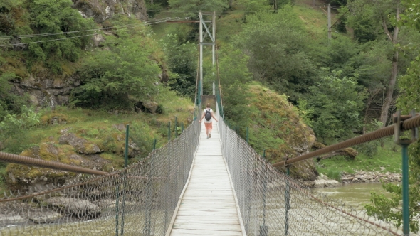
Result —
[[247, 235], [399, 235], [391, 222], [312, 193], [277, 171], [219, 117], [226, 159]]

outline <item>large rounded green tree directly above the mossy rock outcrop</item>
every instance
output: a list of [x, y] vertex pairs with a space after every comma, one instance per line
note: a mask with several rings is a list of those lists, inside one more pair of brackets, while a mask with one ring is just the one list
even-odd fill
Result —
[[290, 5], [277, 14], [249, 16], [247, 22], [235, 43], [250, 57], [248, 66], [254, 80], [267, 82], [291, 100], [298, 100], [317, 73], [308, 55], [311, 42], [303, 22]]

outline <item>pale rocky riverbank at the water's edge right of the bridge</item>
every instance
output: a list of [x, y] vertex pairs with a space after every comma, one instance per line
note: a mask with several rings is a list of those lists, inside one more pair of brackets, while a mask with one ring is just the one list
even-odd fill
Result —
[[322, 173], [315, 181], [303, 181], [303, 185], [308, 188], [331, 188], [342, 186], [347, 183], [385, 183], [401, 182], [401, 173], [380, 173], [359, 171], [357, 173], [347, 173], [341, 176], [341, 183], [334, 179], [330, 179]]

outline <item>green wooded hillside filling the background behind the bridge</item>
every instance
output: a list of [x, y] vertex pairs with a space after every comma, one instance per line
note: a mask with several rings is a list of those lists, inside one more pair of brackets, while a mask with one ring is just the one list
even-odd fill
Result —
[[[334, 24], [330, 40], [329, 3]], [[133, 154], [132, 161], [147, 154], [153, 139], [163, 145], [167, 122], [173, 124], [177, 117], [187, 126], [193, 119], [199, 35], [198, 23], [164, 21], [195, 20], [200, 10], [216, 11], [226, 120], [241, 127], [241, 136], [251, 127], [251, 145], [258, 152], [269, 149], [271, 163], [283, 160], [285, 154], [300, 154], [290, 146], [300, 146], [302, 140], [291, 141], [284, 136], [288, 132], [310, 130], [317, 141], [333, 144], [389, 124], [397, 108], [407, 112], [416, 107], [405, 98], [413, 97], [409, 89], [417, 86], [412, 78], [419, 31], [409, 24], [409, 14], [404, 22], [395, 23], [391, 0], [315, 1], [315, 7], [313, 1], [303, 0], [142, 4], [145, 9], [139, 10], [119, 1], [109, 6], [93, 1], [74, 5], [69, 0], [1, 2], [1, 151], [33, 156], [31, 150], [51, 142], [63, 149], [64, 156], [75, 154], [75, 149], [59, 144], [61, 130], [68, 129], [98, 146], [97, 154], [110, 160], [103, 166], [109, 171], [122, 167], [118, 140], [122, 131], [115, 127], [138, 128], [141, 151]], [[108, 14], [103, 14], [107, 7]], [[380, 14], [389, 17], [379, 21]], [[398, 42], [387, 37], [392, 33]], [[204, 50], [204, 94], [217, 80], [209, 49]], [[397, 80], [395, 87], [389, 87], [392, 78]], [[256, 86], [264, 92], [256, 92]], [[387, 94], [391, 96], [384, 97]], [[277, 104], [272, 95], [283, 97], [281, 103], [299, 116], [299, 122], [285, 129], [288, 118], [283, 108], [256, 102]], [[306, 144], [308, 149], [311, 145]], [[399, 151], [391, 141], [355, 148], [359, 156], [354, 160], [311, 162], [310, 174], [297, 171], [295, 177], [398, 171], [387, 168], [399, 165]], [[359, 166], [364, 159], [382, 161]], [[341, 163], [347, 167], [340, 168]], [[3, 166], [1, 173], [6, 173]]]

